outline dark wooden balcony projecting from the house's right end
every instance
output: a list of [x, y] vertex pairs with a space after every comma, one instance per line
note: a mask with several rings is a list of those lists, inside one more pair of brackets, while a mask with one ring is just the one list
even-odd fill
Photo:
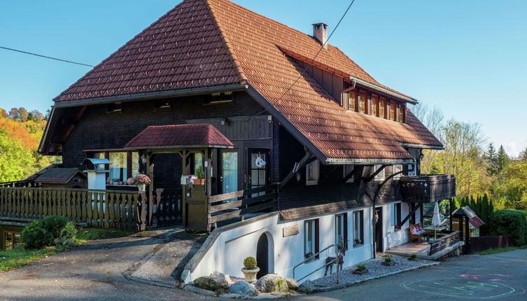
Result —
[[399, 185], [404, 202], [437, 202], [456, 196], [456, 177], [452, 174], [402, 176]]

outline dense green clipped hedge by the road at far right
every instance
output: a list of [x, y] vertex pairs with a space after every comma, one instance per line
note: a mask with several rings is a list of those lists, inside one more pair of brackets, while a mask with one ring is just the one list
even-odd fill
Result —
[[523, 246], [527, 235], [527, 211], [505, 209], [494, 211], [492, 235], [511, 235], [512, 244]]

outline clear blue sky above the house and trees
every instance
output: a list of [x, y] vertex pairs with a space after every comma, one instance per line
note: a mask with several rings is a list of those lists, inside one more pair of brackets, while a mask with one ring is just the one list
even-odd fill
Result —
[[[311, 34], [349, 1], [234, 0]], [[179, 1], [8, 1], [0, 45], [98, 64]], [[380, 83], [476, 122], [517, 155], [527, 146], [527, 1], [356, 0], [330, 43]], [[45, 112], [88, 67], [0, 50], [0, 107]]]

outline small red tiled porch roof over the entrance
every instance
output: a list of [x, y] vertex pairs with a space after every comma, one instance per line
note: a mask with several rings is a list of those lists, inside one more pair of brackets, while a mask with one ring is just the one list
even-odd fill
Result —
[[234, 146], [209, 123], [193, 125], [151, 125], [130, 140], [125, 148], [188, 148]]

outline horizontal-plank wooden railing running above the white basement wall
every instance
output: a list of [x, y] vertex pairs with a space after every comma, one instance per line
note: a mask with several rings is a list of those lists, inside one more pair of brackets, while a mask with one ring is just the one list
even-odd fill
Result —
[[209, 224], [276, 209], [277, 200], [277, 184], [213, 195], [209, 197]]

